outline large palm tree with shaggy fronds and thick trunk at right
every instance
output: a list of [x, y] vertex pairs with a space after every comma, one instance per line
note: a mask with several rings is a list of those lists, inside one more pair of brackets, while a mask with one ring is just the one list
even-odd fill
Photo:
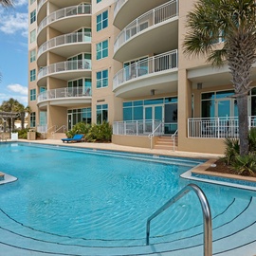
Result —
[[213, 65], [229, 66], [238, 106], [240, 155], [247, 155], [247, 94], [256, 61], [255, 0], [198, 0], [188, 13], [187, 27], [185, 54], [206, 55]]

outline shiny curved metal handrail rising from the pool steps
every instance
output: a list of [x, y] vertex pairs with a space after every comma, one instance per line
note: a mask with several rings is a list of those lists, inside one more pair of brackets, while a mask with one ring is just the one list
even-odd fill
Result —
[[170, 206], [172, 206], [176, 201], [186, 195], [188, 192], [195, 192], [197, 195], [201, 208], [203, 211], [204, 218], [204, 256], [212, 256], [212, 226], [211, 226], [211, 213], [210, 213], [210, 205], [207, 200], [205, 193], [196, 185], [189, 184], [173, 198], [167, 201], [161, 208], [156, 210], [147, 220], [147, 230], [146, 230], [146, 245], [149, 246], [149, 237], [150, 237], [150, 222], [161, 212], [167, 210]]

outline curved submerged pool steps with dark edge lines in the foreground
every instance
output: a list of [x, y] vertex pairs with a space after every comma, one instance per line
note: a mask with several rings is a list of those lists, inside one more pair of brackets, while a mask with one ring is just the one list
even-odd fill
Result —
[[[239, 202], [238, 202], [239, 203]], [[240, 205], [240, 203], [239, 203]], [[223, 214], [213, 217], [213, 255], [221, 255], [224, 252], [232, 252], [235, 254], [235, 249], [243, 247], [244, 245], [252, 245], [256, 241], [256, 200], [251, 198], [250, 201], [245, 200], [243, 208], [236, 213], [232, 213], [237, 208], [234, 203]], [[224, 214], [226, 215], [224, 217]], [[230, 216], [228, 219], [227, 216]], [[225, 220], [225, 221], [223, 221]], [[41, 255], [49, 255], [53, 253], [56, 255], [203, 255], [202, 243], [203, 233], [202, 227], [194, 227], [194, 230], [190, 232], [189, 236], [181, 238], [179, 235], [173, 235], [169, 237], [172, 242], [160, 242], [154, 241], [151, 238], [151, 243], [154, 246], [143, 246], [144, 241], [139, 241], [140, 245], [133, 247], [132, 245], [125, 244], [125, 247], [115, 247], [114, 244], [108, 242], [108, 247], [104, 247], [104, 243], [95, 247], [90, 247], [89, 244], [96, 241], [82, 241], [82, 239], [70, 239], [68, 237], [58, 237], [46, 233], [39, 232], [33, 229], [27, 229], [26, 227], [15, 223], [9, 219], [9, 216], [0, 212], [0, 247], [6, 245], [6, 247], [19, 247], [21, 251], [24, 251], [18, 255], [26, 255], [26, 251], [30, 253], [42, 252]], [[45, 237], [43, 239], [43, 237]], [[72, 245], [68, 243], [72, 243]], [[99, 242], [99, 241], [98, 241]], [[256, 244], [256, 243], [255, 243]], [[100, 246], [100, 247], [99, 247]], [[128, 247], [127, 247], [128, 246]], [[247, 251], [247, 248], [244, 248]], [[1, 248], [2, 251], [2, 248]], [[255, 251], [254, 251], [255, 252]], [[44, 254], [47, 253], [47, 254]], [[182, 254], [183, 253], [183, 254]], [[15, 254], [11, 254], [14, 255]], [[29, 254], [34, 255], [34, 254]], [[36, 255], [36, 254], [35, 254]], [[225, 255], [225, 254], [223, 254]], [[241, 255], [241, 254], [240, 254]], [[253, 254], [244, 254], [245, 256], [252, 256]]]

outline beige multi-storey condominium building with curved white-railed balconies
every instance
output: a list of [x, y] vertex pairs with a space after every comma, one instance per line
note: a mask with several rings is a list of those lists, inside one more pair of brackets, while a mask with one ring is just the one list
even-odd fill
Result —
[[223, 153], [224, 137], [238, 136], [237, 104], [227, 65], [183, 52], [194, 2], [30, 0], [29, 126], [50, 137], [108, 121], [116, 144]]

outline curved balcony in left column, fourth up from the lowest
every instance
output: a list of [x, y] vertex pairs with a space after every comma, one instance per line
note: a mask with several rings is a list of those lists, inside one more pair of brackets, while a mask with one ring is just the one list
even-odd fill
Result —
[[[52, 28], [62, 32], [63, 34], [66, 34], [70, 31], [77, 29], [78, 24], [83, 24], [90, 27], [91, 15], [88, 14], [91, 14], [91, 5], [72, 6], [64, 9], [58, 9], [50, 13], [48, 16], [46, 16], [44, 20], [42, 20], [42, 22], [38, 26], [38, 45], [40, 46], [42, 44], [41, 42], [44, 42], [44, 40], [46, 39], [46, 31], [44, 28], [47, 27], [48, 25], [51, 25]], [[67, 18], [68, 20], [66, 22], [63, 22], [63, 20]], [[70, 20], [71, 18], [76, 18], [76, 20], [72, 21]], [[78, 18], [80, 20], [77, 20]], [[43, 31], [45, 32], [43, 33]]]

